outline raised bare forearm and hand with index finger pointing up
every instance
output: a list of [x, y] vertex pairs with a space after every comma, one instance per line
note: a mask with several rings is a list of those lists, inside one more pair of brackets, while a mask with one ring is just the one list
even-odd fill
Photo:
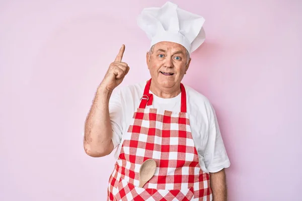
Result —
[[112, 142], [112, 126], [109, 116], [109, 99], [112, 91], [128, 73], [128, 64], [121, 62], [125, 46], [109, 66], [109, 69], [99, 85], [93, 104], [85, 121], [84, 149], [92, 157], [102, 157], [110, 154], [114, 148]]

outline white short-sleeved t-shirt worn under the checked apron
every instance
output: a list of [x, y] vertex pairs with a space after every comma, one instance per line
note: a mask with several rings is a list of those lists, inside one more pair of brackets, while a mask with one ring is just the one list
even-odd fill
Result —
[[[146, 82], [115, 89], [109, 100], [109, 113], [113, 130], [112, 142], [117, 148], [117, 159], [121, 149], [123, 134], [128, 130], [134, 112], [140, 104]], [[189, 114], [192, 137], [199, 156], [199, 164], [204, 172], [217, 172], [230, 166], [221, 138], [215, 111], [209, 100], [193, 88], [185, 86], [187, 113]], [[152, 93], [152, 91], [149, 91]], [[181, 94], [173, 98], [161, 98], [153, 93], [153, 105], [157, 108], [180, 112]]]

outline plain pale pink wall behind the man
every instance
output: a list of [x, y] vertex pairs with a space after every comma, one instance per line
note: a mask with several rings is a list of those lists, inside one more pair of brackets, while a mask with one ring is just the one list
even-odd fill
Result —
[[[122, 85], [149, 78], [136, 17], [164, 3], [0, 2], [0, 200], [106, 199], [113, 155], [85, 154], [84, 121], [122, 44]], [[206, 19], [183, 82], [217, 112], [229, 200], [301, 200], [301, 1], [174, 3]]]

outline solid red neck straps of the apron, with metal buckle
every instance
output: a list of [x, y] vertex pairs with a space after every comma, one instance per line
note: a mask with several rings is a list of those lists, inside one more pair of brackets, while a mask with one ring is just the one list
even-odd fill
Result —
[[[149, 79], [145, 85], [143, 95], [140, 98], [140, 105], [139, 108], [145, 109], [146, 106], [152, 105], [153, 102], [153, 94], [149, 93], [150, 90], [151, 79]], [[180, 112], [186, 113], [187, 112], [187, 96], [186, 96], [186, 89], [182, 83], [180, 83], [180, 90], [181, 90], [181, 105], [180, 105]]]

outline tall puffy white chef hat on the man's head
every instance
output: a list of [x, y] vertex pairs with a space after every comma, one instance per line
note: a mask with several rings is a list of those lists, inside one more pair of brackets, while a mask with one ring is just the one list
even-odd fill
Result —
[[161, 41], [170, 41], [181, 44], [192, 53], [205, 40], [204, 21], [203, 17], [167, 2], [161, 8], [143, 9], [137, 24], [151, 40], [150, 47]]

